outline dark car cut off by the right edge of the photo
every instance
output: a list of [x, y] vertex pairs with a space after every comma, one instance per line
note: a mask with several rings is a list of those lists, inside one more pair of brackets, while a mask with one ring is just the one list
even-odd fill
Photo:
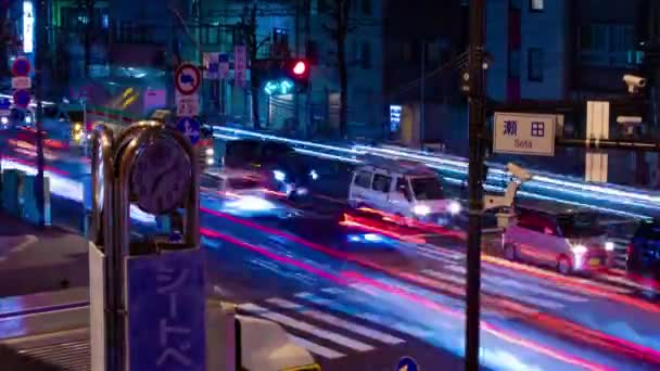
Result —
[[637, 227], [627, 246], [626, 273], [645, 290], [660, 291], [660, 220]]

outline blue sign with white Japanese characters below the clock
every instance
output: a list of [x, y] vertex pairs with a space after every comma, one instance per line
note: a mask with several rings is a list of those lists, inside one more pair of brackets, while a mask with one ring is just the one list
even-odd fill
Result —
[[202, 253], [195, 248], [128, 257], [130, 370], [206, 370]]

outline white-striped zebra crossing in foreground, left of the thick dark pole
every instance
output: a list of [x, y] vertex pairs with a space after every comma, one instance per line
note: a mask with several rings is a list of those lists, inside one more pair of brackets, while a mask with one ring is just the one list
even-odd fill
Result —
[[345, 293], [337, 287], [321, 289], [318, 293], [299, 292], [288, 298], [243, 303], [238, 311], [279, 323], [293, 343], [329, 360], [402, 345], [408, 335], [415, 335], [403, 324], [392, 325], [381, 315], [340, 303], [335, 295]]

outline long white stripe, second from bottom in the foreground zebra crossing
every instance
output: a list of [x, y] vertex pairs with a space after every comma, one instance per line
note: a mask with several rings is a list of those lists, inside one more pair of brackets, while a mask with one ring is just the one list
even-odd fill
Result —
[[262, 306], [258, 306], [256, 304], [253, 304], [253, 303], [241, 304], [241, 305], [239, 305], [239, 309], [252, 312], [256, 316], [269, 319], [271, 321], [279, 322], [283, 325], [296, 329], [299, 331], [303, 331], [303, 332], [313, 334], [315, 336], [331, 341], [333, 343], [355, 349], [357, 351], [373, 350], [373, 347], [369, 344], [365, 344], [363, 342], [359, 342], [359, 341], [356, 341], [353, 338], [348, 338], [346, 336], [333, 333], [331, 331], [327, 331], [327, 330], [317, 328], [313, 324], [295, 320], [291, 317], [280, 315], [275, 311], [270, 311], [270, 310], [268, 310]]

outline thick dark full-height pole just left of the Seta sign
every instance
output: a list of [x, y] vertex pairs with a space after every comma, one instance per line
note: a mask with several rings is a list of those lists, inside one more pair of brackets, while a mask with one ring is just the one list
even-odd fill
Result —
[[[485, 0], [470, 0], [470, 49], [468, 79], [470, 164], [470, 209], [466, 287], [466, 371], [479, 370], [481, 218], [483, 213], [483, 162], [485, 135]], [[423, 79], [422, 79], [423, 80]]]

